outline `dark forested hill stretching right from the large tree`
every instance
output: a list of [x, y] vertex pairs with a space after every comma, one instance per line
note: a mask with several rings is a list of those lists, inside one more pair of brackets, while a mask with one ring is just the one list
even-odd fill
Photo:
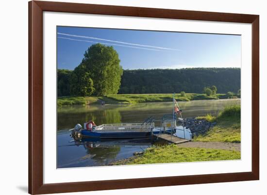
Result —
[[124, 70], [119, 94], [202, 93], [217, 86], [217, 93], [240, 89], [240, 68], [184, 68]]

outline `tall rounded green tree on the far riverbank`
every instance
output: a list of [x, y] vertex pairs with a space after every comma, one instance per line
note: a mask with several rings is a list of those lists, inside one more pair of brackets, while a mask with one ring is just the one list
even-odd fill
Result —
[[71, 94], [81, 95], [85, 74], [87, 80], [91, 79], [94, 82], [95, 95], [117, 94], [122, 75], [122, 67], [119, 63], [118, 53], [113, 47], [102, 44], [92, 45], [85, 51], [82, 63], [73, 71]]

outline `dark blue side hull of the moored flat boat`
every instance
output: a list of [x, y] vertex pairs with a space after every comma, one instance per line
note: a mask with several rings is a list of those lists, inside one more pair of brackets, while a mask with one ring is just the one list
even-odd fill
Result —
[[126, 139], [126, 138], [145, 138], [150, 137], [151, 132], [92, 132], [82, 130], [83, 137], [92, 137], [100, 139]]

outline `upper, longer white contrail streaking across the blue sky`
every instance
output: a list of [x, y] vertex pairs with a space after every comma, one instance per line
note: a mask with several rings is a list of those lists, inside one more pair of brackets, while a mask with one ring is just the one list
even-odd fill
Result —
[[109, 41], [109, 42], [120, 43], [120, 44], [125, 44], [125, 45], [132, 45], [132, 46], [139, 46], [139, 47], [147, 47], [147, 48], [154, 48], [154, 49], [167, 49], [167, 50], [181, 51], [180, 49], [163, 48], [163, 47], [142, 45], [142, 44], [136, 44], [136, 43], [127, 43], [127, 42], [115, 41], [115, 40], [110, 40], [110, 39], [101, 39], [101, 38], [91, 37], [91, 36], [81, 36], [81, 35], [67, 34], [67, 33], [57, 33], [57, 34], [65, 35], [65, 36], [72, 36], [72, 37], [79, 37], [79, 38], [86, 38], [86, 39], [95, 39], [95, 40], [101, 40], [101, 41]]

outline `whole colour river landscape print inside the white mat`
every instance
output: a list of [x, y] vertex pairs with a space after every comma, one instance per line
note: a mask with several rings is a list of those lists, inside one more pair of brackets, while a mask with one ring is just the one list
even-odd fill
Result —
[[57, 26], [57, 168], [241, 159], [241, 35]]

